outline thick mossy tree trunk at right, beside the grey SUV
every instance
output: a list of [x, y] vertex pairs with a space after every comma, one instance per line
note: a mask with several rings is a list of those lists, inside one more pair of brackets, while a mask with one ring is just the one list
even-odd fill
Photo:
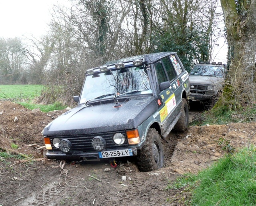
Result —
[[255, 101], [256, 0], [220, 0], [228, 41], [229, 79], [224, 101]]

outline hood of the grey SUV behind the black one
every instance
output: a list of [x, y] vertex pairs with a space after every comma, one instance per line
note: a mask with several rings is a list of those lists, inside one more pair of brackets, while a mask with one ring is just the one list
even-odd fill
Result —
[[216, 85], [216, 84], [224, 83], [224, 78], [222, 77], [200, 76], [200, 75], [191, 75], [188, 77], [189, 77], [190, 84]]

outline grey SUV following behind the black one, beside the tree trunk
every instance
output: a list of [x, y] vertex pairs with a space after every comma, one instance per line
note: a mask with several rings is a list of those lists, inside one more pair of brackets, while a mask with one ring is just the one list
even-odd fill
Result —
[[226, 65], [221, 62], [200, 62], [195, 64], [189, 73], [189, 100], [214, 100], [218, 92], [222, 91]]

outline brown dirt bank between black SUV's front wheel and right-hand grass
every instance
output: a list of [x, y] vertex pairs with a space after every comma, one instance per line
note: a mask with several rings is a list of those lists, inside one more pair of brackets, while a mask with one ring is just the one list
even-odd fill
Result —
[[170, 158], [173, 172], [197, 173], [227, 153], [241, 147], [256, 145], [256, 123], [235, 123], [190, 127], [187, 134], [178, 139]]

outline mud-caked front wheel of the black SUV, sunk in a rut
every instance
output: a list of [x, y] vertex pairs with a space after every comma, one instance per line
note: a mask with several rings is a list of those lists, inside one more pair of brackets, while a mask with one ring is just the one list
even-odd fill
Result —
[[142, 172], [157, 170], [164, 166], [164, 149], [159, 133], [154, 128], [148, 130], [146, 143], [138, 151], [138, 167]]

